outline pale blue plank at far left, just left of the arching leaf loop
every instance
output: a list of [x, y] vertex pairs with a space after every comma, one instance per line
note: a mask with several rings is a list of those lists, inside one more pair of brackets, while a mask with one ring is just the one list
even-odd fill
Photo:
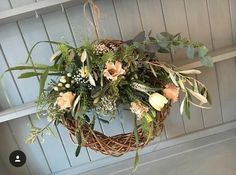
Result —
[[[0, 26], [0, 42], [10, 67], [20, 65], [25, 62], [25, 59], [27, 58], [27, 51], [15, 23]], [[34, 101], [37, 97], [37, 93], [35, 91], [38, 87], [37, 79], [17, 79], [19, 73], [19, 71], [14, 71], [13, 75], [20, 93], [24, 98], [24, 102]]]

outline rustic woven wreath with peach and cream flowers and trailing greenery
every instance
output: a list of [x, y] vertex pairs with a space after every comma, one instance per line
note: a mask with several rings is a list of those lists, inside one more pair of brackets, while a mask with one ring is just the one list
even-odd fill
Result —
[[[178, 101], [180, 92], [184, 94], [180, 113], [185, 112], [188, 117], [190, 105], [204, 108], [211, 103], [205, 85], [192, 76], [200, 74], [199, 70], [178, 70], [158, 61], [157, 53], [173, 55], [177, 49], [184, 49], [188, 58], [199, 58], [203, 65], [212, 65], [203, 44], [180, 34], [162, 32], [152, 37], [141, 32], [129, 41], [97, 40], [78, 48], [68, 43], [46, 42], [58, 48], [50, 59], [51, 65], [33, 63], [31, 53], [39, 42], [27, 59], [32, 65], [8, 70], [26, 70], [19, 78], [40, 79], [37, 104], [39, 110], [47, 108], [49, 123], [45, 128], [32, 126], [29, 143], [51, 124], [62, 124], [76, 138], [76, 156], [81, 146], [120, 156], [138, 151], [161, 133], [171, 103]], [[47, 79], [51, 81], [45, 86]], [[134, 131], [112, 137], [95, 131], [95, 121], [112, 122], [120, 105], [135, 114]]]

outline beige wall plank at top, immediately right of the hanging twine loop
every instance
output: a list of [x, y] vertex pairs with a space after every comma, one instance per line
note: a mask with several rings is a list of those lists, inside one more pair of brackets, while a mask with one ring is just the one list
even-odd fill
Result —
[[114, 4], [124, 40], [131, 39], [143, 30], [136, 0], [114, 0]]

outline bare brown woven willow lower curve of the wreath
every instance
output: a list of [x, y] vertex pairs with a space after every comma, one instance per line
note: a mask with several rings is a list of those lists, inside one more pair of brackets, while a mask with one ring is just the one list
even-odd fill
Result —
[[164, 128], [164, 121], [169, 114], [171, 104], [165, 105], [161, 112], [157, 112], [153, 122], [153, 136], [147, 138], [142, 128], [138, 129], [139, 142], [136, 144], [134, 132], [119, 134], [115, 136], [106, 136], [101, 132], [92, 130], [88, 124], [78, 128], [77, 121], [72, 118], [67, 118], [63, 125], [69, 130], [71, 139], [76, 136], [76, 131], [80, 131], [82, 137], [81, 146], [91, 148], [105, 155], [119, 157], [127, 152], [143, 148], [155, 137], [159, 136]]

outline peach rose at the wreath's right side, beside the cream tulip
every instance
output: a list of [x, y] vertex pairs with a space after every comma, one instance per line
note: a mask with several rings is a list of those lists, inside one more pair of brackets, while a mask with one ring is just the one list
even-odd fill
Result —
[[179, 97], [179, 87], [174, 84], [165, 85], [165, 89], [163, 90], [164, 96], [173, 102], [176, 102]]

